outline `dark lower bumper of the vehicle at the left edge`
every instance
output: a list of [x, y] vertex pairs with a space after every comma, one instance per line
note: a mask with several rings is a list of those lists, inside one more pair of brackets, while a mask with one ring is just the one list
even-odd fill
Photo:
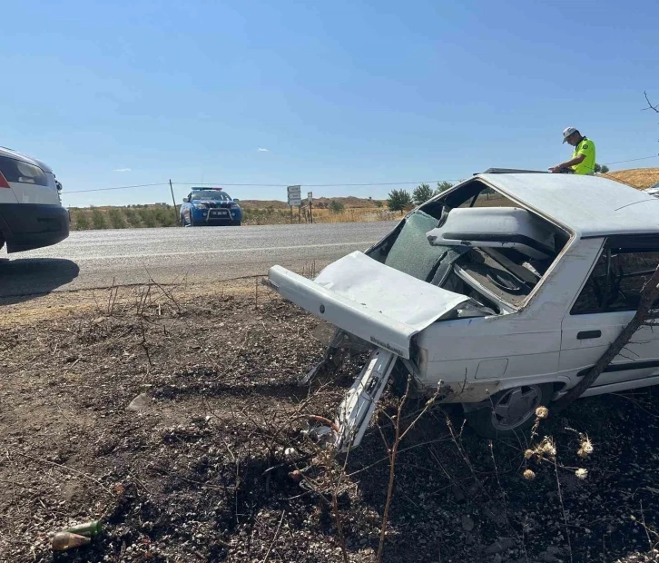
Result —
[[69, 236], [69, 212], [60, 205], [2, 203], [0, 231], [9, 253], [50, 246]]

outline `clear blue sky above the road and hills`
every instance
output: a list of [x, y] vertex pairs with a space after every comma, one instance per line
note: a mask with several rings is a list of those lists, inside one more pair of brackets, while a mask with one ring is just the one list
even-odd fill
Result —
[[[0, 145], [67, 205], [169, 202], [174, 182], [328, 184], [659, 153], [655, 0], [5, 3]], [[260, 150], [267, 149], [267, 150]], [[612, 169], [659, 166], [659, 158]], [[414, 186], [405, 186], [413, 188]], [[276, 187], [227, 187], [285, 199]], [[318, 187], [385, 197], [391, 186]], [[186, 193], [177, 185], [176, 199]]]

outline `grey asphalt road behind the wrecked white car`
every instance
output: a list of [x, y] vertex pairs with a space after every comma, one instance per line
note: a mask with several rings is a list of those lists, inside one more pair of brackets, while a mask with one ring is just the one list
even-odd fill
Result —
[[0, 298], [114, 284], [221, 281], [324, 265], [379, 241], [396, 222], [72, 232], [54, 246], [0, 251]]

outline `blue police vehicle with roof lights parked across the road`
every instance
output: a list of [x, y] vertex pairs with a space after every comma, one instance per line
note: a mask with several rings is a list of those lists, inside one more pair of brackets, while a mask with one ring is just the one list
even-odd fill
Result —
[[221, 188], [192, 188], [183, 198], [181, 224], [185, 227], [233, 225], [239, 227], [242, 210], [238, 200]]

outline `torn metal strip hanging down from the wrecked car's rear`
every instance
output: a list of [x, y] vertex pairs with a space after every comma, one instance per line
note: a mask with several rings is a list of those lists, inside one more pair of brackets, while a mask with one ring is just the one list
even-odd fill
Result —
[[398, 356], [390, 351], [376, 349], [346, 393], [339, 405], [337, 418], [339, 451], [359, 446], [397, 359]]

